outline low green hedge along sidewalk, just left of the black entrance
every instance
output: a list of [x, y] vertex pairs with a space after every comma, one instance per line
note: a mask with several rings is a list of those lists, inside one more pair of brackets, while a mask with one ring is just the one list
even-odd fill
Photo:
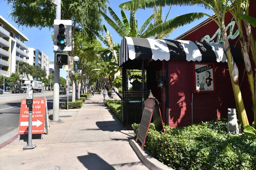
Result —
[[104, 104], [116, 115], [122, 122], [122, 100], [104, 100]]

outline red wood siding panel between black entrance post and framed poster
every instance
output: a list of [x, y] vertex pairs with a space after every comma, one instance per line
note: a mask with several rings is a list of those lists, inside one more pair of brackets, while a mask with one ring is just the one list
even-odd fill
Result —
[[191, 125], [190, 63], [169, 61], [169, 126]]

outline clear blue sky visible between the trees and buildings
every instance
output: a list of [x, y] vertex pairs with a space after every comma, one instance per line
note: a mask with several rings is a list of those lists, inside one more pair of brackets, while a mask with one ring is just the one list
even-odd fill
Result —
[[[113, 9], [113, 11], [115, 11], [115, 13], [119, 16], [119, 18], [121, 19], [121, 10], [119, 9], [119, 4], [120, 3], [125, 3], [128, 0], [109, 0], [110, 4], [108, 4], [109, 6], [111, 6], [111, 8]], [[9, 6], [7, 6], [6, 1], [4, 0], [0, 0], [0, 15], [2, 15], [6, 20], [9, 21], [9, 23], [11, 23], [13, 26], [15, 26], [16, 28], [18, 28], [19, 31], [21, 31], [24, 35], [26, 35], [26, 37], [29, 38], [29, 42], [25, 42], [26, 45], [28, 45], [29, 47], [33, 47], [35, 49], [39, 49], [40, 51], [43, 51], [45, 54], [47, 54], [50, 58], [50, 61], [54, 60], [54, 53], [53, 53], [53, 42], [51, 39], [51, 34], [53, 34], [53, 29], [49, 28], [43, 28], [41, 30], [39, 30], [38, 28], [26, 28], [26, 27], [18, 27], [13, 21], [12, 21], [12, 17], [9, 16], [9, 11], [11, 10], [11, 8]], [[163, 8], [163, 13], [164, 13], [164, 18], [166, 17], [166, 14], [169, 10], [169, 7], [164, 7]], [[187, 14], [187, 13], [191, 13], [191, 12], [204, 12], [207, 13], [209, 15], [212, 15], [213, 12], [211, 10], [206, 10], [200, 6], [173, 6], [172, 10], [167, 18], [167, 20], [170, 20], [172, 18], [174, 18], [177, 15], [183, 15], [183, 14]], [[130, 16], [130, 12], [129, 11], [125, 11], [127, 17]], [[107, 13], [108, 14], [108, 13]], [[140, 28], [140, 26], [144, 23], [144, 21], [151, 15], [153, 14], [153, 9], [139, 9], [136, 13], [136, 18], [138, 21], [138, 28]], [[108, 16], [110, 16], [110, 14], [108, 14]], [[111, 16], [110, 16], [111, 17]], [[172, 32], [172, 34], [170, 34], [170, 36], [168, 37], [169, 39], [175, 39], [176, 37], [180, 36], [181, 34], [185, 33], [186, 31], [188, 31], [189, 29], [195, 27], [196, 25], [198, 25], [199, 23], [203, 22], [204, 20], [206, 20], [208, 17], [204, 17], [201, 20], [196, 20], [195, 22], [180, 27], [178, 29], [176, 29], [175, 31]], [[108, 28], [109, 32], [111, 33], [111, 35], [113, 36], [113, 42], [121, 42], [122, 38], [119, 37], [118, 34], [116, 34], [116, 32], [113, 30], [113, 28], [111, 28], [111, 26], [108, 25], [107, 22], [105, 22], [104, 18], [103, 18], [103, 24], [106, 25], [106, 27]], [[38, 39], [38, 37], [40, 36], [40, 40]], [[105, 35], [104, 35], [105, 36]], [[64, 71], [63, 69], [60, 69], [60, 76], [61, 77], [66, 77], [67, 76], [67, 71]]]

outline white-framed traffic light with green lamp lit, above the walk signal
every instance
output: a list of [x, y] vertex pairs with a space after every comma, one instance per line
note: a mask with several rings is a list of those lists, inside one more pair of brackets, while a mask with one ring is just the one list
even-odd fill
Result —
[[54, 20], [54, 51], [71, 51], [72, 21]]

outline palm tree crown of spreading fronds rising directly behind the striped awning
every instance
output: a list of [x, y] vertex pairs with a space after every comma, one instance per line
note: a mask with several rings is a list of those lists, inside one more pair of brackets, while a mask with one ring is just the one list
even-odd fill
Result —
[[[132, 1], [129, 1], [132, 2]], [[127, 9], [127, 8], [126, 8]], [[122, 21], [116, 15], [116, 13], [108, 7], [108, 11], [111, 14], [113, 20], [102, 12], [102, 16], [105, 18], [107, 23], [121, 36], [121, 37], [155, 37], [163, 38], [165, 35], [170, 34], [173, 29], [178, 28], [179, 26], [186, 25], [193, 22], [196, 19], [200, 19], [204, 16], [203, 13], [190, 13], [177, 16], [171, 20], [163, 22], [162, 18], [162, 7], [157, 8], [154, 6], [154, 14], [148, 17], [147, 20], [143, 23], [139, 31], [137, 31], [137, 20], [136, 20], [136, 10], [137, 8], [129, 8], [130, 10], [130, 22], [125, 15], [125, 12], [121, 10]], [[169, 9], [169, 11], [171, 8]], [[168, 12], [169, 14], [169, 12]], [[166, 18], [168, 17], [168, 14]], [[151, 23], [151, 20], [154, 19], [154, 24]], [[163, 22], [163, 23], [162, 23]]]

